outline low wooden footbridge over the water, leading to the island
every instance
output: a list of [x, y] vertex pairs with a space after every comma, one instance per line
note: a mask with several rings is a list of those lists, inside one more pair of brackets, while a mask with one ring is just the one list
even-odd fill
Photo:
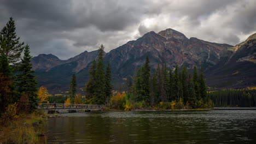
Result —
[[39, 104], [37, 107], [37, 109], [43, 109], [48, 113], [102, 111], [103, 108], [104, 105], [82, 104]]

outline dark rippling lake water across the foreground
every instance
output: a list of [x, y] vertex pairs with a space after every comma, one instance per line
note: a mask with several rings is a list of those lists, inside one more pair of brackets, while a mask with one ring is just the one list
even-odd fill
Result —
[[256, 110], [63, 115], [49, 118], [48, 143], [256, 143]]

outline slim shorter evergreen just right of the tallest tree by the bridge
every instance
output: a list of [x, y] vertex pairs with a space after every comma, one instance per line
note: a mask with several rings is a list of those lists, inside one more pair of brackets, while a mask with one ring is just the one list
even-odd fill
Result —
[[108, 66], [106, 68], [106, 103], [109, 103], [110, 97], [112, 96], [113, 86], [111, 84], [111, 68], [110, 63], [108, 62]]

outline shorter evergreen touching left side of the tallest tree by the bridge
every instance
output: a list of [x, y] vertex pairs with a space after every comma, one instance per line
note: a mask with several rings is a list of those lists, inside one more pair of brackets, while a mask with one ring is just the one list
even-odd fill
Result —
[[86, 92], [86, 99], [91, 99], [92, 95], [94, 94], [95, 88], [96, 88], [96, 61], [92, 61], [91, 67], [89, 70], [90, 78], [88, 83], [85, 85], [85, 92]]

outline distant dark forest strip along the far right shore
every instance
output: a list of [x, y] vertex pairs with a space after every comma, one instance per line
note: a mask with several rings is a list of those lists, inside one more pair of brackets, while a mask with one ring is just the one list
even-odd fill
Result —
[[224, 89], [208, 92], [216, 107], [255, 107], [256, 88]]

